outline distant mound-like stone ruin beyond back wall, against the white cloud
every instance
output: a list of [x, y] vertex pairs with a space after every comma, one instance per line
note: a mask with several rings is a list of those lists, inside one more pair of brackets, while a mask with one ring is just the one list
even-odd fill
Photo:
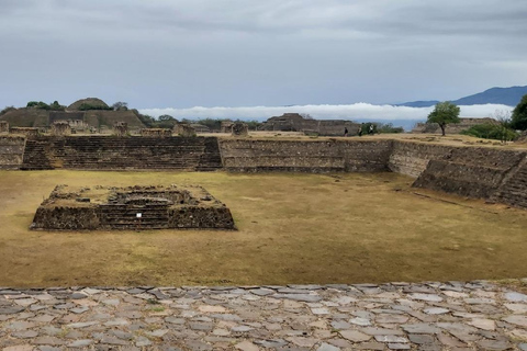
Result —
[[345, 120], [314, 120], [306, 118], [298, 113], [284, 113], [264, 122], [261, 131], [303, 132], [321, 136], [344, 136], [346, 128], [348, 136], [357, 135], [360, 124]]

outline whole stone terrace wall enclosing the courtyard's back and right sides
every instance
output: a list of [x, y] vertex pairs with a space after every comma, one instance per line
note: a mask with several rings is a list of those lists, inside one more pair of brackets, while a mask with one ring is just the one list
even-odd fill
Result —
[[[144, 134], [147, 135], [147, 134]], [[397, 172], [527, 207], [527, 150], [388, 138], [0, 136], [0, 169]]]

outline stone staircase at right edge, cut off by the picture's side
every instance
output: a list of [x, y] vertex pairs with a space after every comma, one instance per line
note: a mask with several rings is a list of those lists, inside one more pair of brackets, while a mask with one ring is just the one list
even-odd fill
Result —
[[491, 200], [527, 208], [527, 156], [505, 176]]

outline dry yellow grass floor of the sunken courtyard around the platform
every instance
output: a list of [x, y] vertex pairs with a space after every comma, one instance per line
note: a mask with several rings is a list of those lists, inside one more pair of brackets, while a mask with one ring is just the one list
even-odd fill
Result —
[[[527, 211], [433, 192], [426, 193], [433, 199], [418, 196], [412, 180], [395, 173], [0, 171], [0, 285], [527, 276]], [[59, 183], [201, 184], [231, 207], [239, 230], [29, 230]]]

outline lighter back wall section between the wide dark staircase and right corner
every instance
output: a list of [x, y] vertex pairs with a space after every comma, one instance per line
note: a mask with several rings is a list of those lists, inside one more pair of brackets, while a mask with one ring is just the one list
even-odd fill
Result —
[[222, 139], [220, 149], [229, 171], [379, 172], [392, 141]]

